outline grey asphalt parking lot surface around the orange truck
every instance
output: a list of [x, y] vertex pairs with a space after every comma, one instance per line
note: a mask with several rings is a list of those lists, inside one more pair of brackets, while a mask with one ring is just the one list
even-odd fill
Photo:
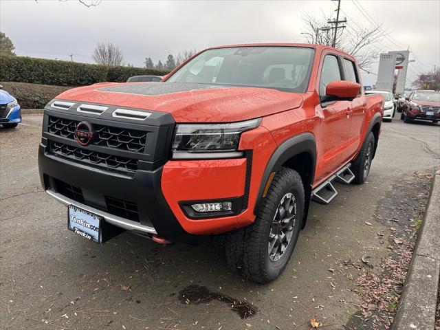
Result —
[[361, 260], [380, 276], [391, 235], [405, 237], [413, 221], [405, 212], [399, 227], [392, 214], [427, 198], [429, 180], [415, 173], [429, 177], [440, 157], [438, 124], [384, 122], [368, 182], [312, 203], [284, 274], [256, 285], [228, 270], [219, 242], [164, 246], [124, 233], [98, 245], [69, 232], [65, 206], [40, 186], [41, 122], [27, 115], [0, 129], [1, 329], [309, 329], [312, 318], [355, 329], [365, 301], [354, 278], [370, 267]]

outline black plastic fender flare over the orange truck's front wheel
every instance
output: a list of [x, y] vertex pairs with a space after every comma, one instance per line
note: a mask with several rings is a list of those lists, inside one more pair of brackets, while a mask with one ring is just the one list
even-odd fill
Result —
[[[267, 162], [266, 168], [261, 178], [260, 188], [258, 195], [256, 195], [256, 201], [254, 206], [254, 214], [257, 214], [261, 199], [263, 199], [263, 192], [267, 181], [269, 180], [270, 173], [278, 171], [281, 166], [290, 158], [299, 155], [300, 153], [309, 153], [311, 156], [312, 168], [311, 170], [311, 182], [304, 183], [305, 187], [310, 185], [314, 181], [315, 169], [316, 169], [316, 140], [312, 133], [301, 133], [294, 137], [286, 140], [278, 148], [275, 149], [274, 153]], [[307, 184], [307, 186], [306, 186]], [[310, 189], [311, 190], [311, 189]], [[307, 198], [307, 197], [306, 197]]]

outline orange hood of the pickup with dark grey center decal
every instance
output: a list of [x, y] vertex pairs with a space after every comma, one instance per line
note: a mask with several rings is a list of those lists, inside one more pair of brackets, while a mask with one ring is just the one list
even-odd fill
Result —
[[303, 97], [276, 89], [194, 83], [100, 83], [56, 97], [168, 112], [177, 122], [236, 122], [300, 107]]

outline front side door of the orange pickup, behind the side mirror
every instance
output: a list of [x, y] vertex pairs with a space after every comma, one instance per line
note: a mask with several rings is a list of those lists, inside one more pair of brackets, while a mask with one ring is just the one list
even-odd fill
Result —
[[[327, 54], [322, 62], [319, 78], [319, 95], [325, 96], [325, 89], [334, 80], [343, 80], [341, 58]], [[318, 105], [322, 118], [318, 144], [316, 179], [325, 179], [347, 162], [350, 157], [349, 135], [351, 124], [351, 102], [333, 101]]]

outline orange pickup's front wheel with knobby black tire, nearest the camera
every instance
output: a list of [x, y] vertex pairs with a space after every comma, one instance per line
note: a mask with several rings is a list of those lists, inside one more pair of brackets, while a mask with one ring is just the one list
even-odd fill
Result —
[[258, 215], [251, 225], [226, 240], [228, 264], [250, 281], [267, 283], [285, 269], [300, 232], [304, 214], [304, 187], [290, 168], [278, 170]]

